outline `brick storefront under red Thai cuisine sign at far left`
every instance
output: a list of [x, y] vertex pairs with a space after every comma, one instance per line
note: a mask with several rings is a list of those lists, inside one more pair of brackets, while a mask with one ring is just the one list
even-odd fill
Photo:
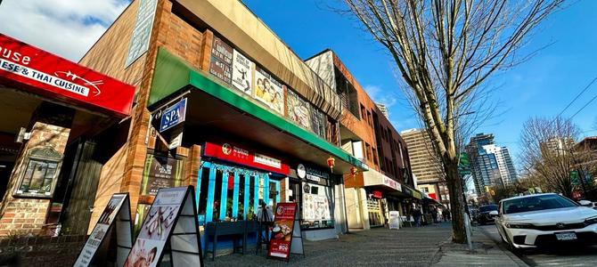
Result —
[[0, 34], [0, 235], [54, 234], [59, 222], [71, 234], [86, 233], [100, 153], [113, 147], [106, 137], [130, 115], [134, 93]]

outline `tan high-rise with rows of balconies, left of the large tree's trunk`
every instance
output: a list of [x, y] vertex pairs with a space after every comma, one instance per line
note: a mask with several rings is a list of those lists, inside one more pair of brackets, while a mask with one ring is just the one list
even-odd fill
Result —
[[425, 130], [410, 129], [400, 135], [408, 145], [408, 156], [413, 174], [417, 177], [417, 187], [429, 197], [449, 205], [444, 167], [433, 150], [429, 134]]

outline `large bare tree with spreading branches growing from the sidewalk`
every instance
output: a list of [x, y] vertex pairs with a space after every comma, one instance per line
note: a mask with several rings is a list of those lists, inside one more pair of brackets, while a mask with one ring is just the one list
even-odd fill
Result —
[[[457, 127], [479, 116], [482, 85], [524, 61], [517, 51], [562, 0], [344, 0], [396, 63], [446, 172], [453, 240], [463, 243]], [[532, 54], [532, 53], [531, 53]], [[474, 119], [469, 121], [474, 122]]]

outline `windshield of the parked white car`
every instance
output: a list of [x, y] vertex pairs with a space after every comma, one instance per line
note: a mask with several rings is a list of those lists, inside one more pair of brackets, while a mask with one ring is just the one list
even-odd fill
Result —
[[578, 206], [568, 198], [559, 195], [544, 195], [529, 198], [518, 198], [503, 202], [504, 214], [517, 214], [529, 211]]

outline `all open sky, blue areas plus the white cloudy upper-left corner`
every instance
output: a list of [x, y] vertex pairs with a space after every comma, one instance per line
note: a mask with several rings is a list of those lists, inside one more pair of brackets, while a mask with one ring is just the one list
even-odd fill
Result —
[[[124, 10], [128, 0], [4, 0], [0, 32], [73, 61], [83, 56]], [[299, 57], [306, 59], [325, 48], [338, 53], [375, 101], [388, 104], [390, 121], [398, 131], [418, 127], [413, 112], [397, 87], [393, 64], [378, 44], [346, 16], [327, 4], [339, 0], [245, 0], [245, 4], [274, 30]], [[528, 50], [555, 42], [530, 61], [492, 79], [499, 85], [499, 116], [478, 132], [495, 134], [515, 157], [522, 123], [527, 117], [554, 116], [597, 77], [597, 1], [577, 1], [544, 21]], [[597, 83], [563, 115], [571, 116], [597, 95]], [[597, 101], [574, 121], [585, 135], [597, 135]]]

